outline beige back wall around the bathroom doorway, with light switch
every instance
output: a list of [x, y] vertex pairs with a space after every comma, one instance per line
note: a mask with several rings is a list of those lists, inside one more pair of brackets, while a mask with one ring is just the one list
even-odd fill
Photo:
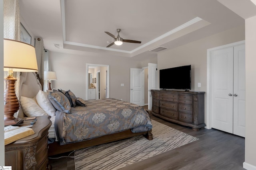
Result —
[[[51, 68], [58, 76], [52, 86], [70, 89], [81, 98], [86, 96], [86, 63], [109, 65], [110, 98], [123, 99], [126, 102], [130, 102], [130, 68], [143, 68], [148, 66], [148, 63], [157, 63], [156, 57], [140, 60], [138, 57], [106, 56], [103, 53], [92, 57], [50, 51], [49, 58]], [[121, 86], [121, 83], [124, 86]]]

